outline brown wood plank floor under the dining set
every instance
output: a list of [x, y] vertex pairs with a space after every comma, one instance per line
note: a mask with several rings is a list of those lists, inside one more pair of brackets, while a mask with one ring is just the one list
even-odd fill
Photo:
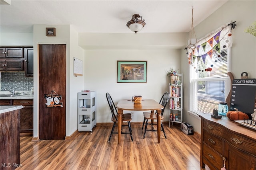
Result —
[[[96, 126], [92, 132], [77, 133], [71, 141], [20, 137], [20, 164], [16, 170], [202, 170], [200, 143], [180, 131], [180, 125], [164, 125], [161, 132], [148, 131], [143, 139], [141, 125], [132, 125], [130, 134], [117, 134], [110, 143], [110, 126]], [[125, 130], [125, 129], [124, 129]]]

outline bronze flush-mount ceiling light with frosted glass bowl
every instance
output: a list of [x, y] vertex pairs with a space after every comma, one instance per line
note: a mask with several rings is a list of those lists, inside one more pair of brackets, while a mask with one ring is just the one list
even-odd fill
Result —
[[139, 14], [134, 14], [132, 19], [128, 21], [126, 25], [128, 28], [130, 28], [130, 30], [132, 30], [132, 32], [137, 33], [146, 25], [144, 21], [145, 20], [142, 20], [142, 16]]

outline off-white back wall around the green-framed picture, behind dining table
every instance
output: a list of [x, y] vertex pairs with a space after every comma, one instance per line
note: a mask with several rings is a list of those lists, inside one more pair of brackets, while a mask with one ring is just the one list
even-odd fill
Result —
[[[117, 83], [117, 61], [147, 61], [147, 83]], [[111, 113], [106, 101], [106, 92], [115, 104], [134, 95], [159, 101], [169, 91], [170, 77], [166, 70], [180, 67], [180, 50], [86, 50], [85, 89], [97, 92], [97, 122], [111, 122]], [[169, 119], [168, 106], [164, 121]], [[142, 111], [134, 112], [133, 122], [143, 121]]]

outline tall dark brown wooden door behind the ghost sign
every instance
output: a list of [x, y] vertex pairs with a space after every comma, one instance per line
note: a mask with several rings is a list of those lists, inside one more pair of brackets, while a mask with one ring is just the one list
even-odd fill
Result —
[[[52, 91], [62, 95], [63, 107], [46, 107], [44, 94]], [[65, 139], [65, 136], [66, 45], [39, 45], [39, 139]]]

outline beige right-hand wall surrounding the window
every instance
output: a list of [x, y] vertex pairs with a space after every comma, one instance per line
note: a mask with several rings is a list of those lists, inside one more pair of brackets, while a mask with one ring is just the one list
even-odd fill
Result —
[[[196, 10], [196, 9], [195, 9]], [[194, 10], [194, 11], [195, 11]], [[195, 11], [196, 12], [196, 11]], [[196, 18], [194, 18], [196, 20]], [[256, 21], [256, 1], [228, 1], [221, 8], [216, 10], [206, 20], [195, 27], [198, 39], [204, 37], [214, 29], [228, 23], [236, 21], [237, 26], [232, 31], [233, 45], [231, 49], [231, 70], [234, 78], [240, 78], [242, 72], [248, 72], [249, 78], [256, 78], [256, 37], [249, 33], [245, 33], [244, 29], [251, 26]], [[186, 51], [182, 51], [182, 70], [184, 76], [184, 110], [189, 109], [189, 68]], [[200, 133], [200, 119], [185, 114], [185, 120], [193, 125], [194, 131]]]

